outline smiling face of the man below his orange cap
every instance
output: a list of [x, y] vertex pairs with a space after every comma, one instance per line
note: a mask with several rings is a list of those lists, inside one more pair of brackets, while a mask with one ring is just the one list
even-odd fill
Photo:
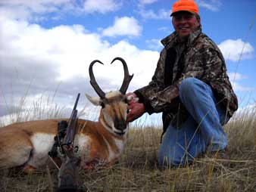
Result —
[[199, 25], [200, 19], [197, 19], [194, 14], [188, 11], [179, 11], [173, 15], [173, 27], [180, 39], [186, 39]]

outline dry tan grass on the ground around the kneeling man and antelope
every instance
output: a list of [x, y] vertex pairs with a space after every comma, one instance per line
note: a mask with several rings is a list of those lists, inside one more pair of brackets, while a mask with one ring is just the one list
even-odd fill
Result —
[[[80, 172], [85, 191], [256, 191], [255, 111], [236, 115], [226, 126], [229, 166], [198, 159], [192, 166], [160, 170], [156, 166], [161, 129], [131, 128], [117, 164]], [[55, 178], [56, 171], [52, 173]], [[46, 172], [11, 175], [0, 171], [0, 191], [51, 191]]]

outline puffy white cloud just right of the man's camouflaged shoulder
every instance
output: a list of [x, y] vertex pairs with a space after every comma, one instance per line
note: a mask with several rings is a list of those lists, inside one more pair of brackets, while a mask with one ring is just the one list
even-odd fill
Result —
[[243, 42], [242, 39], [227, 39], [218, 46], [226, 60], [250, 59], [254, 54], [252, 45], [249, 42]]

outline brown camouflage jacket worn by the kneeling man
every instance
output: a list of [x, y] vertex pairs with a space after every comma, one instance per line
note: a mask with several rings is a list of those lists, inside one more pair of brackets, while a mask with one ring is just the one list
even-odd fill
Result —
[[164, 45], [151, 82], [134, 91], [145, 110], [163, 112], [164, 129], [179, 126], [189, 115], [179, 98], [183, 79], [195, 77], [211, 86], [218, 104], [232, 116], [237, 110], [236, 94], [226, 74], [226, 64], [220, 49], [201, 28], [191, 33], [186, 43], [180, 43], [176, 32], [162, 39]]

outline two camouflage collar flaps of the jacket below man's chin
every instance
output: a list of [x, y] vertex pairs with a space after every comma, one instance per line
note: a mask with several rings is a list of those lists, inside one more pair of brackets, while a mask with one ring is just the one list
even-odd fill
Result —
[[[195, 30], [195, 32], [189, 34], [187, 46], [192, 45], [192, 42], [201, 34], [201, 27]], [[178, 42], [178, 34], [176, 32], [171, 33], [169, 36], [161, 40], [164, 47], [170, 48]]]

